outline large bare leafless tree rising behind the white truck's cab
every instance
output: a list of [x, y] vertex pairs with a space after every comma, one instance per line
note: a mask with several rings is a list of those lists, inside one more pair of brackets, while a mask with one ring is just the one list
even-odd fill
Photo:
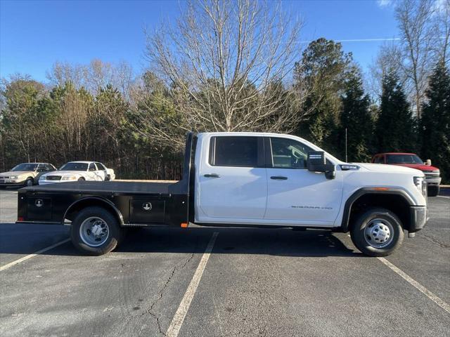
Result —
[[290, 131], [299, 115], [281, 109], [295, 95], [283, 81], [300, 55], [300, 26], [280, 2], [201, 0], [189, 2], [176, 25], [146, 32], [150, 69], [181, 112], [167, 130], [153, 128], [153, 136], [172, 142], [173, 127]]

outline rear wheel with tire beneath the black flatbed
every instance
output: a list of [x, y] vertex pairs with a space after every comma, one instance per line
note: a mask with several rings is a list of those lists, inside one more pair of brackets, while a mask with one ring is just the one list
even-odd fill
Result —
[[70, 238], [79, 251], [99, 256], [116, 248], [123, 230], [117, 219], [101, 207], [80, 211], [70, 226]]

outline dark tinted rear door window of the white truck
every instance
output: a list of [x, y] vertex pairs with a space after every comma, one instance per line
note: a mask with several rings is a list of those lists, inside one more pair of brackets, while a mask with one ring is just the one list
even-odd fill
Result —
[[249, 136], [213, 137], [210, 142], [210, 164], [212, 166], [257, 167], [259, 165], [258, 149], [262, 138]]

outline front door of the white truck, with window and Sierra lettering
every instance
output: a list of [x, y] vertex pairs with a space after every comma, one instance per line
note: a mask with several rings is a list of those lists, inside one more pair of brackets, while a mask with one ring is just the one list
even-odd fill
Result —
[[307, 170], [310, 147], [291, 138], [265, 138], [267, 209], [264, 219], [279, 224], [333, 225], [342, 199], [342, 175], [334, 179]]

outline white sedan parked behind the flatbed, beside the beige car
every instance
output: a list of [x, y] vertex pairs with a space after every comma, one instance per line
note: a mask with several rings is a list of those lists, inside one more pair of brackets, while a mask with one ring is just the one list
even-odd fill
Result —
[[113, 169], [106, 169], [105, 165], [98, 161], [69, 161], [58, 171], [43, 174], [39, 178], [39, 185], [67, 183], [82, 180], [114, 180]]

